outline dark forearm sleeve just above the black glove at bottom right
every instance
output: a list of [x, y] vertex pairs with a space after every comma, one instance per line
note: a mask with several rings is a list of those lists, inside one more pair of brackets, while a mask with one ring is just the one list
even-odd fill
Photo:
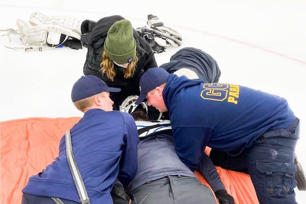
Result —
[[214, 192], [221, 189], [225, 190], [215, 165], [206, 153], [204, 153], [201, 157], [198, 171], [205, 177], [206, 181], [211, 185]]

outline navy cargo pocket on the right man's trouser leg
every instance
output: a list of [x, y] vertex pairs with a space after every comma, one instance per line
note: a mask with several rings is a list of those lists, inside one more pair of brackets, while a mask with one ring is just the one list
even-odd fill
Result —
[[294, 177], [295, 165], [293, 163], [269, 161], [271, 160], [256, 162], [256, 168], [261, 172], [261, 179], [267, 194], [273, 196], [292, 194], [297, 184]]

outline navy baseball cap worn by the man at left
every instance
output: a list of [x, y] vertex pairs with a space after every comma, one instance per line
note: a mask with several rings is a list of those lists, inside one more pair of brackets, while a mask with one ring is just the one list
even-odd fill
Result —
[[104, 81], [94, 75], [82, 76], [72, 87], [71, 100], [74, 103], [104, 91], [119, 92], [121, 89], [108, 87]]

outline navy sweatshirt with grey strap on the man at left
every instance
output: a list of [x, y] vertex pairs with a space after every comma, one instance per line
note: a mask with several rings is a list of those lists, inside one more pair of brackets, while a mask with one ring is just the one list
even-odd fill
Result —
[[[112, 203], [110, 191], [118, 179], [126, 187], [137, 170], [138, 133], [130, 114], [91, 109], [71, 130], [73, 154], [91, 203]], [[66, 157], [65, 136], [59, 156], [30, 177], [22, 192], [80, 202]]]

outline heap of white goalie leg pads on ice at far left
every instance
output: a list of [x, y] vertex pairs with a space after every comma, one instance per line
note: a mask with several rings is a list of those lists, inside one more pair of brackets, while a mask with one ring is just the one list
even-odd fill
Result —
[[[24, 50], [45, 50], [43, 45], [50, 48], [60, 45], [73, 49], [82, 48], [81, 23], [83, 20], [70, 16], [46, 16], [40, 12], [31, 15], [29, 22], [17, 19], [18, 30], [7, 29], [7, 35], [19, 34], [20, 40], [26, 46], [8, 48], [22, 48]], [[35, 45], [35, 46], [33, 46]]]

